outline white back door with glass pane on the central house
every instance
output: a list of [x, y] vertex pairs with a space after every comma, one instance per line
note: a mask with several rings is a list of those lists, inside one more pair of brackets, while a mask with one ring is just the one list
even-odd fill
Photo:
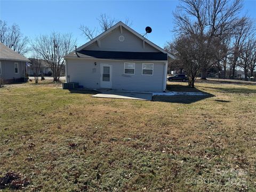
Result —
[[101, 74], [101, 81], [100, 87], [101, 88], [111, 88], [112, 87], [112, 66], [107, 64], [100, 65], [100, 74]]

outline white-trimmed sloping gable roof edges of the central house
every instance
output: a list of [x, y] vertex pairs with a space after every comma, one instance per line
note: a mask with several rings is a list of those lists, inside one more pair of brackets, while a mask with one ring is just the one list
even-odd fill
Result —
[[[82, 51], [85, 47], [91, 45], [94, 42], [97, 42], [100, 38], [102, 38], [103, 36], [106, 36], [107, 34], [109, 34], [111, 31], [113, 31], [114, 29], [116, 29], [117, 27], [124, 27], [126, 30], [130, 31], [132, 34], [134, 34], [135, 36], [139, 37], [142, 41], [145, 41], [146, 43], [148, 43], [149, 45], [153, 46], [155, 49], [161, 51], [162, 53], [166, 53], [168, 55], [168, 57], [175, 59], [175, 57], [165, 51], [164, 49], [162, 49], [161, 47], [157, 46], [156, 44], [152, 43], [151, 41], [149, 41], [147, 38], [143, 37], [142, 35], [140, 35], [139, 33], [137, 33], [135, 30], [133, 30], [132, 28], [130, 28], [129, 26], [125, 25], [122, 21], [119, 21], [118, 23], [116, 23], [116, 25], [110, 27], [108, 30], [104, 31], [102, 34], [98, 35], [97, 37], [93, 38], [91, 41], [85, 43], [84, 45], [80, 46], [77, 48], [77, 51]], [[75, 51], [71, 52], [74, 53]], [[70, 56], [70, 54], [66, 55], [67, 57]]]

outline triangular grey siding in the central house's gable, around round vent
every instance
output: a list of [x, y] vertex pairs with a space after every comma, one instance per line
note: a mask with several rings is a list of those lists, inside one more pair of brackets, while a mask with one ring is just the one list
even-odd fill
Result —
[[[124, 36], [124, 41], [119, 41], [119, 36]], [[85, 47], [84, 50], [94, 51], [131, 51], [131, 52], [160, 52], [153, 46], [145, 42], [145, 48], [143, 48], [143, 41], [139, 37], [132, 34], [129, 30], [123, 28], [123, 34], [121, 34], [120, 28], [116, 28], [111, 31], [110, 34], [100, 39], [100, 47], [97, 42]]]

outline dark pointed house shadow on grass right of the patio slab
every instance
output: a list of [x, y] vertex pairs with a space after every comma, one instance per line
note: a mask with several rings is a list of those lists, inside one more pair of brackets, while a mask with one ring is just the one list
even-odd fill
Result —
[[167, 85], [166, 89], [168, 91], [175, 92], [196, 92], [202, 93], [203, 95], [155, 95], [153, 96], [152, 101], [189, 104], [201, 101], [203, 99], [215, 97], [213, 94], [186, 85]]

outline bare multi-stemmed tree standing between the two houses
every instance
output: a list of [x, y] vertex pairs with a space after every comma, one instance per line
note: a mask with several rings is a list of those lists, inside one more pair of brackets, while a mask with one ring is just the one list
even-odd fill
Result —
[[41, 59], [44, 59], [52, 70], [53, 81], [59, 81], [61, 70], [65, 65], [63, 56], [71, 52], [76, 40], [71, 34], [52, 33], [51, 35], [40, 35], [31, 44]]

